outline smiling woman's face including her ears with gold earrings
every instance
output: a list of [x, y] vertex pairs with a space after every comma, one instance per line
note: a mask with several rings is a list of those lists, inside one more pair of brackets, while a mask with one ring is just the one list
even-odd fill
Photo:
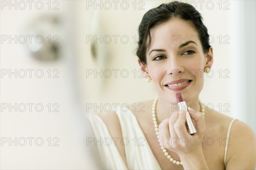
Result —
[[204, 54], [198, 32], [185, 20], [171, 19], [150, 32], [147, 64], [140, 67], [151, 77], [158, 98], [177, 103], [175, 94], [180, 92], [186, 102], [198, 100], [203, 70], [212, 66], [212, 47]]

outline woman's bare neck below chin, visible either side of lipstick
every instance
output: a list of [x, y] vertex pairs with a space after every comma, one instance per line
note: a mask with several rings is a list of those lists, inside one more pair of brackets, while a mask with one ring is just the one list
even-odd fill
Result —
[[[200, 112], [199, 99], [196, 98], [187, 103], [188, 107]], [[157, 114], [157, 122], [160, 124], [165, 118], [170, 118], [173, 112], [179, 111], [179, 107], [176, 103], [169, 103], [162, 98], [158, 98], [156, 114]]]

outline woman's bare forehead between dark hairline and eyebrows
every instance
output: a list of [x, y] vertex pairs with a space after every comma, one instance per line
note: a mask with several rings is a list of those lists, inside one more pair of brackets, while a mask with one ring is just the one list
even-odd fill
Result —
[[200, 44], [198, 32], [189, 21], [172, 19], [161, 23], [150, 30], [151, 46], [149, 48], [176, 48], [186, 41], [192, 40]]

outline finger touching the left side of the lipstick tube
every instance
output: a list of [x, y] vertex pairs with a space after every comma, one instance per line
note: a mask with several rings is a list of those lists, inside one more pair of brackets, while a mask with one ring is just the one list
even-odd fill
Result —
[[178, 119], [174, 127], [179, 138], [190, 137], [186, 129], [186, 112], [184, 111], [184, 109], [181, 109], [181, 111], [179, 112]]

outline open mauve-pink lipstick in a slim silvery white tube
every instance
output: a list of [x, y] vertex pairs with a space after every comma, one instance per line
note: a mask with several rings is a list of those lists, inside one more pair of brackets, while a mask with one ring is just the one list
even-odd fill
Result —
[[181, 96], [181, 93], [176, 93], [176, 98], [177, 98], [177, 102], [178, 102], [178, 106], [180, 109], [184, 109], [185, 112], [186, 112], [186, 124], [187, 124], [187, 127], [189, 129], [189, 134], [192, 135], [194, 133], [196, 133], [196, 130], [195, 130], [195, 126], [192, 122], [192, 119], [189, 115], [189, 112], [188, 112], [188, 108], [186, 106], [186, 102], [183, 101], [183, 98]]

